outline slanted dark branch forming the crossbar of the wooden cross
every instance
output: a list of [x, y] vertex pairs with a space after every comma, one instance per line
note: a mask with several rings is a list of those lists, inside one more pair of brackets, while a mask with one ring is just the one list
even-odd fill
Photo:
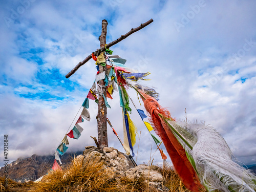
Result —
[[[108, 45], [106, 45], [106, 48], [108, 49], [108, 48], [110, 48], [110, 47], [116, 45], [118, 42], [120, 42], [121, 40], [125, 39], [127, 36], [129, 36], [129, 35], [135, 33], [136, 31], [139, 31], [140, 29], [146, 27], [147, 25], [150, 25], [153, 21], [154, 21], [153, 19], [150, 19], [150, 20], [148, 20], [146, 23], [140, 24], [139, 27], [137, 27], [137, 28], [135, 28], [135, 29], [132, 28], [131, 31], [129, 31], [129, 32], [126, 33], [125, 35], [121, 35], [121, 37], [119, 37], [118, 39], [116, 39], [116, 40], [110, 42]], [[105, 48], [101, 48], [101, 49], [100, 49], [100, 52], [102, 52], [102, 51], [105, 51]], [[88, 57], [86, 57], [83, 61], [79, 62], [79, 63], [77, 64], [77, 66], [74, 67], [74, 69], [72, 69], [72, 70], [66, 75], [66, 78], [69, 78], [71, 75], [73, 75], [82, 65], [84, 65], [84, 63], [86, 63], [87, 61], [89, 61], [91, 58], [92, 58], [92, 55], [88, 55]]]

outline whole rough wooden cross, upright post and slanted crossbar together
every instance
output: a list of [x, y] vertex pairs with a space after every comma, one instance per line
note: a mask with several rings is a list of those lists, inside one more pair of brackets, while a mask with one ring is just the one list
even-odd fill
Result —
[[[106, 45], [106, 26], [108, 25], [108, 22], [105, 19], [103, 19], [102, 20], [101, 35], [99, 36], [100, 49], [97, 49], [93, 53], [96, 56], [99, 56], [100, 53], [105, 51], [105, 49], [109, 49], [113, 45], [115, 45], [118, 42], [120, 42], [121, 40], [125, 39], [127, 36], [135, 33], [136, 31], [139, 31], [140, 29], [146, 27], [147, 25], [151, 24], [152, 22], [153, 22], [153, 19], [150, 19], [146, 23], [141, 24], [139, 27], [137, 27], [135, 29], [132, 28], [131, 31], [129, 31], [125, 35], [121, 35], [121, 37], [119, 37], [118, 39], [110, 42], [110, 44]], [[105, 57], [105, 54], [103, 54], [103, 55]], [[83, 61], [79, 62], [77, 64], [77, 66], [66, 75], [66, 78], [69, 78], [71, 75], [73, 75], [78, 70], [79, 67], [84, 65], [84, 63], [89, 61], [91, 58], [92, 58], [92, 54], [90, 54]], [[99, 66], [99, 73], [106, 72], [106, 66], [105, 67], [103, 67], [102, 65], [98, 65], [98, 66]], [[99, 84], [99, 86], [102, 87], [102, 92], [103, 92], [102, 94], [106, 98], [106, 87], [104, 86], [105, 85], [104, 80], [100, 80], [98, 82], [98, 84]], [[104, 148], [104, 147], [109, 146], [109, 144], [108, 144], [108, 133], [107, 133], [107, 127], [106, 127], [106, 105], [105, 105], [103, 95], [101, 95], [101, 94], [98, 95], [99, 96], [99, 99], [98, 99], [99, 100], [99, 102], [98, 102], [98, 115], [96, 117], [97, 124], [98, 124], [98, 141], [99, 141], [99, 147], [100, 148]]]

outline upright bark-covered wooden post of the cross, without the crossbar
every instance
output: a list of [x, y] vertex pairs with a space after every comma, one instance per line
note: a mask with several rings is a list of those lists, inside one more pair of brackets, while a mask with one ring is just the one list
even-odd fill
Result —
[[[106, 26], [108, 26], [108, 22], [103, 19], [102, 20], [102, 30], [100, 35], [100, 48], [104, 48], [106, 44]], [[105, 54], [104, 54], [105, 57]], [[99, 72], [106, 72], [106, 67], [99, 65]], [[104, 80], [100, 80], [99, 85], [102, 86], [102, 91], [106, 98], [106, 87]], [[97, 123], [98, 123], [98, 141], [99, 147], [104, 148], [108, 147], [108, 133], [106, 127], [106, 105], [103, 96], [99, 93], [99, 103], [98, 103], [98, 115], [97, 115]]]

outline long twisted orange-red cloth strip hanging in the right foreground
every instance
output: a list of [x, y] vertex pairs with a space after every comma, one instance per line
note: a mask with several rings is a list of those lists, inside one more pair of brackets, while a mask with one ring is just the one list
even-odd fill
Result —
[[144, 102], [145, 109], [151, 115], [154, 130], [158, 136], [161, 137], [166, 150], [172, 159], [175, 170], [182, 179], [184, 185], [191, 191], [199, 191], [199, 189], [203, 188], [203, 186], [200, 183], [195, 169], [190, 164], [184, 148], [158, 115], [162, 114], [166, 118], [171, 118], [170, 113], [163, 109], [155, 98], [144, 94], [142, 91], [140, 94], [142, 95], [141, 98]]

